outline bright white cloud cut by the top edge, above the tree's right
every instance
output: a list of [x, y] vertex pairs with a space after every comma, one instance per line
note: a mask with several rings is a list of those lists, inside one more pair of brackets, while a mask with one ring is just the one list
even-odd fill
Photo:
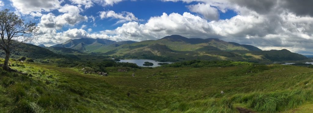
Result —
[[22, 14], [31, 14], [32, 12], [49, 12], [57, 9], [61, 2], [59, 0], [10, 0], [12, 5]]

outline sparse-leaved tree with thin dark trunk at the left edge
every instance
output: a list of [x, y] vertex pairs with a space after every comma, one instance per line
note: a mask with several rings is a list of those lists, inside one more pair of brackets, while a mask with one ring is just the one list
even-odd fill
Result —
[[0, 48], [5, 52], [3, 69], [8, 70], [10, 54], [20, 50], [18, 45], [31, 42], [38, 31], [36, 23], [31, 21], [25, 23], [21, 17], [4, 9], [0, 11]]

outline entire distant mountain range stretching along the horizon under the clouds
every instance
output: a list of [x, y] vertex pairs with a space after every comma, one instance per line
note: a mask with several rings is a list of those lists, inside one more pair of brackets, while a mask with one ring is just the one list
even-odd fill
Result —
[[[62, 44], [45, 47], [59, 53], [94, 53], [124, 58], [179, 60], [234, 60], [234, 61], [286, 61], [307, 59], [289, 50], [263, 51], [252, 45], [226, 42], [220, 39], [192, 39], [180, 35], [158, 40], [112, 41], [108, 39], [70, 39]], [[64, 50], [62, 50], [64, 49]], [[66, 49], [66, 50], [65, 50]]]

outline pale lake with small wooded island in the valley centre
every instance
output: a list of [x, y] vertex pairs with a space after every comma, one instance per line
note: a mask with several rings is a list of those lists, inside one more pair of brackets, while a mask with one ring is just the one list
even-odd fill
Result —
[[[172, 64], [172, 62], [157, 62], [155, 60], [148, 60], [148, 59], [120, 59], [121, 61], [118, 62], [128, 62], [128, 63], [135, 63], [138, 66], [142, 66], [142, 67], [157, 67], [157, 66], [161, 66], [159, 65], [159, 63], [168, 63], [168, 64]], [[152, 66], [144, 66], [143, 64], [145, 64], [145, 62], [151, 62], [153, 63]]]

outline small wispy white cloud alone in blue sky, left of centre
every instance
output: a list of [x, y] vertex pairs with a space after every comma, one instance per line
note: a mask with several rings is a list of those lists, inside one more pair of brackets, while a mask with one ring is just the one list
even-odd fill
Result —
[[115, 18], [119, 21], [117, 23], [124, 23], [127, 21], [138, 21], [138, 18], [135, 17], [133, 13], [130, 12], [122, 12], [122, 13], [115, 13], [114, 11], [101, 11], [100, 18]]

